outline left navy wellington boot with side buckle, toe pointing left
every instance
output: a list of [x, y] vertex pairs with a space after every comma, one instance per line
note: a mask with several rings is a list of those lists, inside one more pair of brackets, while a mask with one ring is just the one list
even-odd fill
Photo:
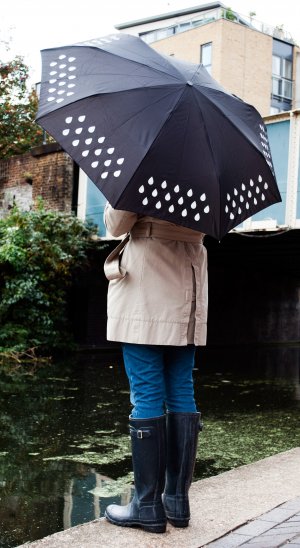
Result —
[[166, 417], [130, 419], [135, 494], [127, 506], [111, 504], [105, 517], [114, 525], [164, 533], [162, 492], [166, 471]]

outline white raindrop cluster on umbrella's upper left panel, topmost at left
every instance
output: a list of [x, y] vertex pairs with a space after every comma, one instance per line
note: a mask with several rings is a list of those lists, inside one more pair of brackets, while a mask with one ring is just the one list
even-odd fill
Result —
[[47, 101], [63, 103], [75, 93], [76, 57], [61, 53], [49, 63], [49, 87]]

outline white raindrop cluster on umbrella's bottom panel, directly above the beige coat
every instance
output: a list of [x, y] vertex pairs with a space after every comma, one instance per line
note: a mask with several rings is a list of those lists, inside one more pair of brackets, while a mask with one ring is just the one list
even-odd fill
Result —
[[156, 183], [153, 177], [150, 177], [146, 184], [139, 187], [142, 205], [154, 205], [159, 211], [168, 211], [171, 214], [181, 215], [181, 217], [193, 216], [195, 221], [200, 221], [202, 215], [210, 212], [205, 192], [199, 195], [198, 192], [189, 188], [183, 190], [180, 185], [173, 187], [167, 181]]

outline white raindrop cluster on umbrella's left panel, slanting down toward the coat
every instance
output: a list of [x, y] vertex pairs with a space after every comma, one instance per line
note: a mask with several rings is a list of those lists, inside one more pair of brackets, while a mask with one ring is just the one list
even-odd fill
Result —
[[62, 135], [68, 137], [78, 156], [86, 158], [90, 167], [101, 173], [101, 179], [121, 175], [125, 159], [118, 156], [115, 147], [105, 144], [105, 135], [99, 135], [96, 126], [88, 123], [85, 114], [67, 116], [65, 123]]

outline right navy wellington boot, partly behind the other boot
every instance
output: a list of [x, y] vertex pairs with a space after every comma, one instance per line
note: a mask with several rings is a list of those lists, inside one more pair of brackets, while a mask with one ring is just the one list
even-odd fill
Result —
[[167, 467], [163, 504], [174, 527], [187, 527], [190, 520], [188, 492], [197, 453], [200, 413], [167, 413]]

